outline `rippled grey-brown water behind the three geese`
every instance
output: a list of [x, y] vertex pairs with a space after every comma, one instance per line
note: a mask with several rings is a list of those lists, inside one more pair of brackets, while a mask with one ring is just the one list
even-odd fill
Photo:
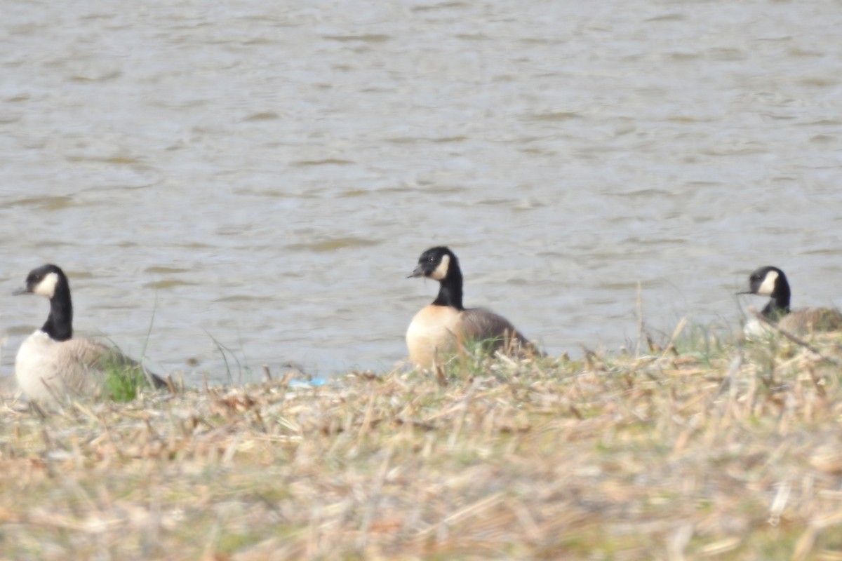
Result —
[[[736, 328], [763, 264], [837, 299], [838, 3], [2, 11], [3, 291], [56, 262], [160, 368], [389, 368], [434, 244], [553, 353], [633, 339], [638, 281], [653, 331]], [[2, 301], [8, 374], [47, 306]]]

